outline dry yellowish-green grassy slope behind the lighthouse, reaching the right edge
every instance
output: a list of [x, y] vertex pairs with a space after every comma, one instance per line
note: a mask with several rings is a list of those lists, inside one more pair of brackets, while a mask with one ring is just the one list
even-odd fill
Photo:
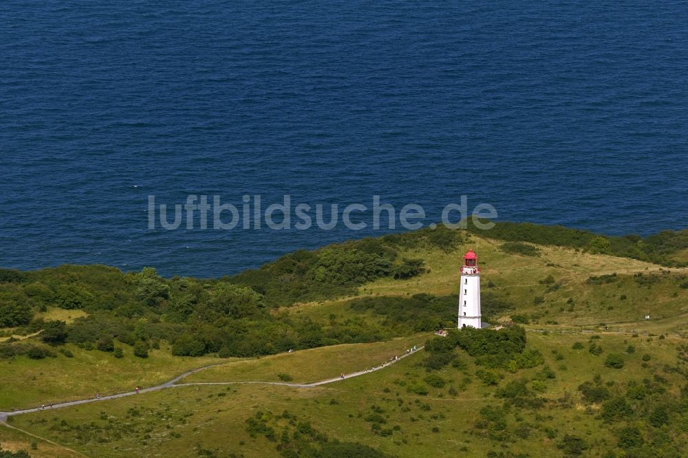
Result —
[[[573, 248], [532, 246], [537, 255], [510, 252], [504, 243], [475, 235], [451, 252], [410, 249], [402, 256], [424, 260], [427, 272], [412, 279], [378, 279], [358, 288], [355, 296], [335, 301], [305, 303], [286, 309], [325, 323], [329, 317], [352, 316], [361, 297], [388, 301], [389, 296], [455, 298], [458, 294], [460, 257], [469, 247], [483, 268], [483, 313], [499, 321], [516, 318], [519, 323], [541, 327], [588, 327], [606, 324], [614, 329], [632, 321], [677, 316], [688, 312], [688, 270]], [[355, 297], [355, 299], [354, 299]], [[454, 318], [455, 299], [444, 314]], [[438, 314], [442, 315], [442, 314]], [[442, 315], [444, 316], [444, 315]], [[367, 317], [374, 320], [374, 316]], [[649, 323], [647, 323], [649, 324]], [[445, 326], [451, 326], [445, 320]]]

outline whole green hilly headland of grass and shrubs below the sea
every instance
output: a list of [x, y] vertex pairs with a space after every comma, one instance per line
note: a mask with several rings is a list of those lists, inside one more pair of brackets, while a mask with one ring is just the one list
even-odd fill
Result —
[[[178, 386], [12, 424], [88, 456], [681, 456], [685, 241], [502, 223], [296, 252], [219, 280], [5, 270], [0, 410], [215, 363], [182, 383], [313, 382], [378, 365], [455, 326], [458, 267], [473, 248], [484, 318], [524, 327], [524, 348], [481, 356], [451, 337], [312, 389]], [[0, 428], [0, 444], [52, 456], [54, 444], [21, 437]]]

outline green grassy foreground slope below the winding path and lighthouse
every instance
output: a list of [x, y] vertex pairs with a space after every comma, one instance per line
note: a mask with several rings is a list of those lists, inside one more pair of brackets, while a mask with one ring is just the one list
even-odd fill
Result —
[[[449, 364], [431, 372], [419, 364], [426, 356], [418, 353], [382, 371], [314, 389], [183, 386], [173, 392], [23, 415], [12, 424], [86, 455], [103, 457], [231, 453], [277, 457], [283, 431], [293, 437], [295, 430], [307, 429], [301, 425], [304, 422], [329, 441], [360, 442], [400, 457], [486, 456], [490, 452], [541, 456], [544, 450], [561, 456], [565, 449], [560, 446], [568, 444], [567, 435], [581, 440], [570, 442], [583, 444], [586, 456], [601, 456], [608, 450], [623, 450], [617, 446], [620, 428], [640, 425], [646, 444], [664, 435], [658, 446], [665, 455], [658, 456], [680, 456], [688, 417], [675, 400], [681, 398], [684, 376], [666, 370], [676, 367], [678, 342], [605, 334], [593, 339], [604, 347], [604, 353], [592, 356], [587, 349], [590, 336], [529, 334], [528, 347], [541, 353], [544, 364], [517, 373], [495, 370], [499, 377], [494, 386], [475, 375], [481, 368], [463, 352], [458, 353], [457, 367]], [[583, 342], [585, 348], [572, 349], [574, 342]], [[634, 353], [627, 353], [628, 345], [634, 345]], [[605, 367], [609, 353], [623, 355], [621, 369]], [[323, 360], [317, 354], [310, 357]], [[244, 363], [228, 366], [233, 364]], [[551, 369], [552, 378], [542, 375], [545, 367]], [[323, 375], [320, 368], [321, 364], [313, 364], [311, 373], [302, 372], [303, 368], [299, 373], [311, 380]], [[442, 380], [442, 386], [429, 375]], [[509, 388], [514, 382], [516, 388]], [[586, 401], [578, 389], [585, 382], [607, 390], [609, 399], [623, 398], [630, 411], [608, 422], [602, 417], [608, 400]], [[427, 392], [418, 390], [418, 384]], [[644, 421], [644, 412], [652, 413], [654, 405], [669, 408], [671, 426], [654, 427]], [[259, 412], [266, 427], [250, 427], [247, 420]], [[267, 426], [274, 430], [274, 440]]]

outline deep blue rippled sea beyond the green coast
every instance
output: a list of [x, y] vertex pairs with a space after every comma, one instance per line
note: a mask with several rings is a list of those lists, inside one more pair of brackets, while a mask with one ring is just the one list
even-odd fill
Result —
[[149, 195], [686, 228], [688, 6], [5, 0], [0, 172], [21, 269], [221, 276], [389, 232], [149, 230]]

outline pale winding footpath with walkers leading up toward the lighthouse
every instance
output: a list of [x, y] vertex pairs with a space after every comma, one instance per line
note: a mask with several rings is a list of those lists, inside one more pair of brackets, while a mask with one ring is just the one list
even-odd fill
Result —
[[422, 350], [422, 349], [423, 349], [423, 347], [418, 347], [418, 349], [416, 351], [411, 351], [411, 353], [403, 354], [402, 356], [400, 356], [398, 358], [398, 360], [392, 360], [392, 361], [385, 362], [384, 364], [381, 364], [380, 366], [376, 366], [372, 369], [365, 369], [363, 371], [345, 374], [344, 378], [341, 378], [341, 377], [328, 378], [327, 380], [320, 380], [319, 382], [312, 382], [312, 383], [261, 382], [261, 381], [255, 381], [255, 382], [189, 382], [189, 383], [177, 383], [180, 380], [182, 380], [183, 378], [188, 377], [192, 373], [203, 371], [204, 369], [208, 369], [209, 367], [219, 366], [220, 364], [231, 364], [231, 362], [219, 362], [217, 364], [208, 364], [208, 366], [198, 367], [197, 369], [193, 369], [192, 371], [186, 371], [186, 372], [182, 373], [181, 375], [178, 375], [177, 377], [173, 378], [172, 380], [169, 380], [168, 382], [164, 382], [164, 383], [156, 385], [156, 386], [150, 386], [149, 388], [140, 389], [138, 392], [137, 391], [127, 391], [126, 393], [118, 393], [118, 394], [114, 394], [114, 395], [101, 396], [98, 398], [89, 397], [87, 399], [82, 399], [82, 400], [61, 402], [60, 404], [52, 404], [52, 406], [33, 407], [33, 408], [25, 408], [25, 409], [17, 410], [17, 411], [0, 412], [0, 422], [5, 423], [5, 422], [7, 422], [8, 417], [14, 417], [15, 415], [23, 415], [25, 413], [34, 413], [34, 412], [41, 412], [41, 411], [51, 411], [51, 410], [54, 410], [56, 408], [78, 406], [79, 404], [88, 404], [89, 402], [107, 401], [107, 400], [111, 400], [111, 399], [118, 399], [119, 397], [136, 395], [138, 393], [149, 393], [150, 391], [158, 391], [158, 390], [162, 390], [162, 389], [166, 389], [166, 388], [174, 388], [175, 386], [265, 384], [265, 385], [292, 386], [294, 388], [313, 388], [314, 386], [320, 386], [320, 385], [325, 385], [325, 384], [329, 384], [329, 383], [334, 383], [334, 382], [338, 382], [340, 380], [345, 380], [347, 378], [358, 377], [359, 375], [364, 375], [364, 374], [369, 373], [369, 372], [379, 371], [380, 369], [383, 369], [387, 366], [390, 366], [391, 364], [394, 364], [395, 362], [398, 362], [398, 361], [402, 360], [403, 358], [406, 358], [407, 356], [411, 356], [413, 353], [418, 353], [418, 351]]

